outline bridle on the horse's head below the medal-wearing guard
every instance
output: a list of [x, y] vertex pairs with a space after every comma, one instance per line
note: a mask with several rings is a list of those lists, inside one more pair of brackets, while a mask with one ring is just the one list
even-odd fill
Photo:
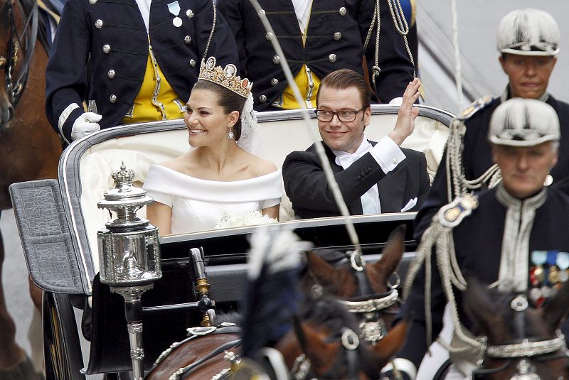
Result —
[[[518, 295], [511, 301], [510, 307], [514, 310], [514, 332], [516, 339], [508, 344], [487, 345], [486, 338], [483, 341], [483, 354], [492, 359], [505, 359], [503, 365], [492, 369], [476, 369], [472, 372], [472, 380], [487, 379], [491, 374], [498, 374], [506, 370], [515, 360], [516, 374], [511, 380], [539, 380], [535, 369], [529, 359], [536, 362], [549, 362], [555, 359], [566, 359], [569, 363], [569, 354], [565, 345], [565, 336], [558, 332], [552, 339], [526, 337], [525, 310], [528, 301], [525, 295]], [[556, 353], [560, 351], [559, 353]], [[483, 358], [482, 358], [483, 359]], [[482, 364], [481, 359], [481, 364]]]

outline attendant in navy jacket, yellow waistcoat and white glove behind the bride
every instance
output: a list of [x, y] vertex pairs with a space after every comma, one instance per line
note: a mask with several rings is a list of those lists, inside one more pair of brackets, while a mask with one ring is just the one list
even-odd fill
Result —
[[179, 119], [205, 54], [238, 63], [211, 0], [68, 0], [46, 69], [48, 120], [69, 143], [117, 124]]

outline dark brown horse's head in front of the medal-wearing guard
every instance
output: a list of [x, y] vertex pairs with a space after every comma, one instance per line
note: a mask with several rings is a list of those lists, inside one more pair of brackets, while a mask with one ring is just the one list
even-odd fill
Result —
[[569, 312], [569, 283], [543, 306], [504, 294], [470, 278], [464, 309], [486, 336], [482, 368], [472, 379], [569, 379], [569, 354], [558, 332]]

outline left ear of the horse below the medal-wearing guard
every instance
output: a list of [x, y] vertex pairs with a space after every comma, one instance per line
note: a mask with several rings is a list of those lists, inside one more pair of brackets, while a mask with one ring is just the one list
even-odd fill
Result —
[[471, 320], [478, 323], [490, 343], [499, 342], [507, 329], [504, 327], [501, 313], [496, 310], [496, 303], [491, 300], [488, 289], [478, 278], [469, 276], [467, 283], [467, 290], [464, 291], [462, 300], [464, 311]]

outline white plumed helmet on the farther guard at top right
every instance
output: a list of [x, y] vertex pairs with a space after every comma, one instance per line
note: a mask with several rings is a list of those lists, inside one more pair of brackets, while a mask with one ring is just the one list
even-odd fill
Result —
[[556, 55], [559, 27], [551, 14], [539, 9], [516, 9], [498, 26], [497, 48], [516, 55]]

